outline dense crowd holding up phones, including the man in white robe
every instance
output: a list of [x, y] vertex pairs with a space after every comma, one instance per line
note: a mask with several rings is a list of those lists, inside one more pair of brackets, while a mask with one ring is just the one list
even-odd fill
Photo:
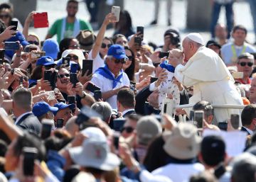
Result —
[[169, 28], [158, 46], [124, 10], [95, 35], [78, 4], [68, 1], [43, 41], [29, 32], [36, 11], [21, 31], [0, 4], [1, 181], [256, 181], [247, 28], [217, 24], [207, 43]]

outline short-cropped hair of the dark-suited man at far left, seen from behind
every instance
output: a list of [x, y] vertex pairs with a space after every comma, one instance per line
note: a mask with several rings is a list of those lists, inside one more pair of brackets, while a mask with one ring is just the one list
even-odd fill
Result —
[[32, 93], [28, 89], [17, 89], [12, 97], [18, 108], [23, 108], [24, 110], [32, 109]]

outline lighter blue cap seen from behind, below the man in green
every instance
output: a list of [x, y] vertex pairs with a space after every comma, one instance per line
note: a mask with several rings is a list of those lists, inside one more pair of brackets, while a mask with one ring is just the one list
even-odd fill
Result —
[[43, 51], [46, 52], [46, 56], [53, 57], [53, 59], [57, 59], [58, 52], [60, 51], [57, 40], [53, 38], [48, 38], [43, 42]]

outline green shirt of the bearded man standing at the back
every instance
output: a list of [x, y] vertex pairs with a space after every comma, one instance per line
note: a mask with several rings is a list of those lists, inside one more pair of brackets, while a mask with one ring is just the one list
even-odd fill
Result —
[[[92, 30], [92, 27], [90, 23], [87, 23], [85, 21], [82, 21], [81, 19], [78, 19], [80, 23], [80, 30]], [[56, 35], [57, 34], [57, 41], [60, 43], [61, 40], [61, 29], [62, 29], [62, 23], [63, 23], [63, 18], [58, 19], [53, 23], [49, 30], [50, 35]], [[65, 33], [64, 33], [64, 38], [70, 38], [73, 37], [73, 29], [74, 29], [74, 23], [68, 23], [66, 22], [65, 26]]]

